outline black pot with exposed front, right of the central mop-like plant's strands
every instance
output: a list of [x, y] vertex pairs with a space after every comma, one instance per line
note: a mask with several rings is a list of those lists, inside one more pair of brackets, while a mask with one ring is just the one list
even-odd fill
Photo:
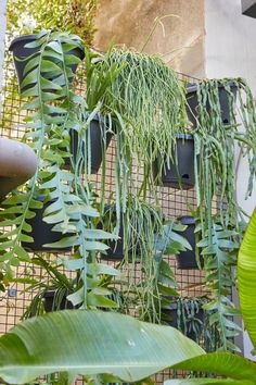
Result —
[[[153, 177], [157, 185], [171, 188], [190, 189], [194, 187], [194, 138], [189, 134], [176, 136], [176, 149], [178, 166], [170, 161], [168, 166], [167, 159], [163, 167], [161, 178], [157, 178], [159, 159], [153, 164]], [[175, 150], [172, 159], [176, 159]]]

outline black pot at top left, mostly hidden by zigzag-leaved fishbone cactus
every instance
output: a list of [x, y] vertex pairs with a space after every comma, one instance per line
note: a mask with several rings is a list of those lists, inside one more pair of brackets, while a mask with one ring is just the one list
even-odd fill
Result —
[[[33, 53], [38, 52], [40, 49], [40, 47], [35, 47], [35, 48], [25, 47], [27, 44], [35, 41], [36, 36], [37, 35], [23, 35], [23, 36], [16, 37], [15, 39], [12, 40], [10, 48], [9, 48], [9, 50], [13, 53], [14, 65], [15, 65], [20, 87], [21, 87], [21, 84], [25, 77], [24, 76], [24, 69], [25, 69], [26, 64], [28, 63], [28, 61], [30, 60], [29, 57]], [[82, 50], [81, 47], [72, 49], [68, 53], [72, 53], [72, 54], [76, 55], [77, 58], [80, 58], [81, 60], [85, 58], [85, 51]], [[20, 60], [22, 60], [22, 61], [20, 61]], [[72, 70], [73, 74], [75, 74], [76, 69], [77, 69], [77, 64], [71, 64], [68, 66]], [[30, 71], [33, 71], [33, 70], [34, 69], [31, 69]], [[31, 84], [30, 86], [22, 87], [21, 91], [31, 88], [34, 85]]]

